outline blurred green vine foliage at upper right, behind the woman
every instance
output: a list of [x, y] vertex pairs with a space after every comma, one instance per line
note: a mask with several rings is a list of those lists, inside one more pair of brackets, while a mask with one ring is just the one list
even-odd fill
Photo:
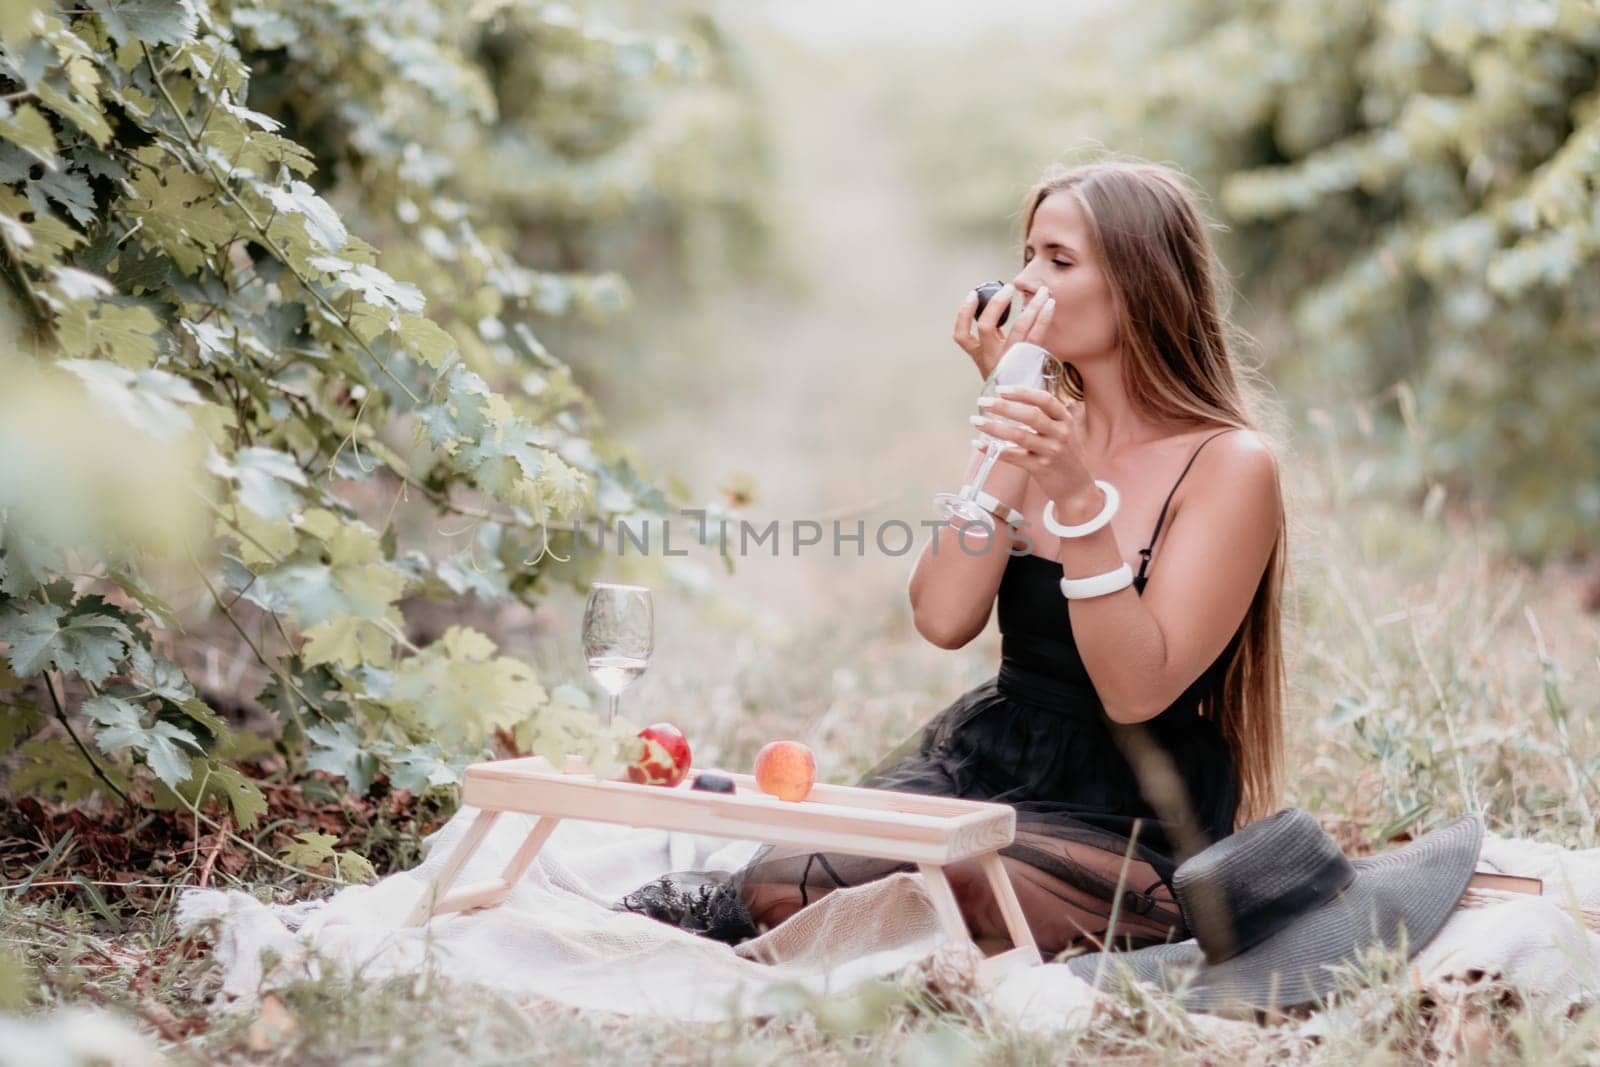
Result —
[[[1365, 406], [1408, 382], [1414, 411], [1381, 430], [1426, 454], [1379, 488], [1477, 498], [1530, 558], [1597, 547], [1595, 5], [1178, 0], [1035, 50], [1022, 107], [963, 82], [920, 109], [942, 189], [1080, 139], [1178, 163], [1216, 197], [1250, 307], [1286, 320], [1272, 370], [1294, 397]], [[942, 147], [952, 126], [990, 150]], [[1014, 186], [981, 218], [939, 206], [994, 226]]]

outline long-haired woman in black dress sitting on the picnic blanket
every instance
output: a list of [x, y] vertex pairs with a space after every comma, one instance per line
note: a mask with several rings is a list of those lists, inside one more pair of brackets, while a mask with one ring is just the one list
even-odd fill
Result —
[[[1016, 277], [976, 323], [966, 298], [955, 342], [984, 376], [1024, 339], [1059, 366], [1046, 390], [989, 406], [1029, 429], [979, 426], [1019, 446], [984, 486], [998, 531], [941, 526], [909, 587], [917, 632], [939, 648], [978, 637], [998, 601], [1000, 667], [859, 784], [1013, 805], [1002, 859], [1051, 958], [1187, 937], [1174, 867], [1275, 808], [1286, 526], [1251, 418], [1262, 390], [1229, 352], [1186, 179], [1088, 163], [1030, 189], [1022, 216]], [[1013, 291], [1026, 306], [1002, 334]], [[1056, 526], [1094, 525], [1110, 506], [1098, 480], [1118, 494], [1110, 522], [1050, 533], [1046, 506]], [[1146, 589], [1152, 553], [1160, 581]], [[1062, 577], [1125, 563], [1131, 584], [1062, 592]], [[675, 872], [618, 907], [738, 942], [830, 889], [912, 869], [768, 845], [738, 872]], [[1005, 937], [978, 861], [946, 870], [974, 937]]]

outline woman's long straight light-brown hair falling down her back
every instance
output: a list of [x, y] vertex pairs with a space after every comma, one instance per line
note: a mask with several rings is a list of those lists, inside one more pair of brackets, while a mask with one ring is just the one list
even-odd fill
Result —
[[[1187, 176], [1126, 158], [1058, 165], [1022, 198], [1024, 242], [1038, 205], [1056, 194], [1075, 197], [1088, 216], [1128, 355], [1122, 381], [1134, 405], [1158, 421], [1224, 422], [1277, 443], [1277, 427], [1258, 426], [1270, 408], [1264, 379], [1230, 355], [1226, 274]], [[1083, 376], [1070, 363], [1064, 368], [1056, 390], [1082, 400]], [[1200, 713], [1216, 721], [1234, 755], [1235, 825], [1277, 809], [1288, 689], [1282, 616], [1286, 553], [1288, 526], [1280, 510], [1277, 542], [1238, 646], [1200, 702]]]

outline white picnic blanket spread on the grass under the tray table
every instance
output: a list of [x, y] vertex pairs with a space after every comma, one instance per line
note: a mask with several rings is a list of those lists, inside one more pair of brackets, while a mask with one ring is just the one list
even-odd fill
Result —
[[[232, 889], [187, 889], [178, 904], [179, 926], [219, 920], [224, 993], [240, 1006], [326, 965], [360, 966], [370, 977], [430, 965], [442, 976], [512, 997], [688, 1021], [782, 1014], [811, 995], [926, 965], [941, 941], [920, 873], [829, 893], [736, 947], [614, 912], [611, 902], [667, 870], [734, 870], [758, 843], [578, 819], [557, 825], [504, 905], [405, 928], [475, 814], [462, 808], [442, 827], [416, 870], [347, 886], [325, 901], [269, 905]], [[531, 822], [533, 816], [501, 816], [458, 885], [496, 877]], [[1544, 878], [1546, 896], [1458, 910], [1413, 960], [1419, 981], [1482, 971], [1528, 995], [1568, 1003], [1600, 990], [1600, 937], [1578, 912], [1600, 909], [1600, 849], [1486, 835], [1480, 869]], [[267, 949], [277, 963], [262, 974]], [[997, 1019], [1037, 1030], [1086, 1021], [1098, 997], [1053, 965], [1013, 971], [982, 992]]]

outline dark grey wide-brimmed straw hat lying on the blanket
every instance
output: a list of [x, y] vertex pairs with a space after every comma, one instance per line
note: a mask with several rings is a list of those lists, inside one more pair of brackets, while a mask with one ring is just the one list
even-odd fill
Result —
[[[1483, 845], [1466, 814], [1382, 856], [1347, 859], [1298, 808], [1251, 822], [1173, 873], [1194, 941], [1066, 960], [1078, 977], [1174, 992], [1186, 1008], [1293, 1008], [1333, 992], [1333, 968], [1373, 945], [1432, 941], [1461, 901]], [[1403, 933], [1402, 933], [1403, 931]], [[1102, 966], [1104, 961], [1104, 966]]]

